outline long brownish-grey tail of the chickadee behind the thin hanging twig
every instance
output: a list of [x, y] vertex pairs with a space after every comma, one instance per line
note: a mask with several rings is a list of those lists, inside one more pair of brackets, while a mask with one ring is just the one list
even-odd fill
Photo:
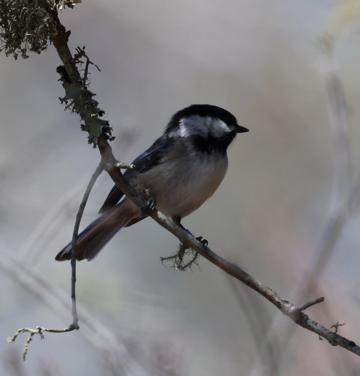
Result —
[[[77, 237], [76, 259], [92, 260], [103, 249], [105, 244], [122, 227], [128, 226], [130, 222], [139, 217], [139, 209], [134, 205], [123, 205], [130, 203], [128, 200], [118, 203], [112, 209], [98, 217], [89, 224]], [[139, 220], [142, 218], [139, 218]], [[71, 242], [67, 244], [55, 257], [56, 261], [71, 259]]]

